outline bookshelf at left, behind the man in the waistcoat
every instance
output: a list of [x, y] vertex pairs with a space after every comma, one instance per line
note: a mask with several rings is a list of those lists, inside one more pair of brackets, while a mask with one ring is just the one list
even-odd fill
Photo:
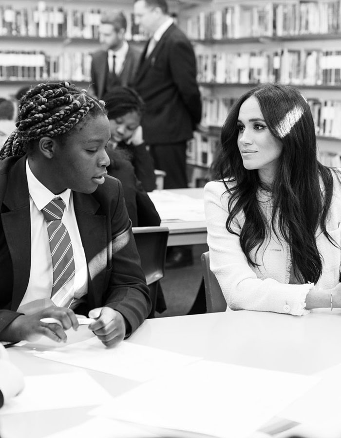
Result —
[[[179, 4], [170, 0], [172, 13]], [[125, 13], [126, 37], [142, 49], [146, 36], [133, 22], [133, 0], [0, 0], [0, 97], [46, 80], [88, 88], [100, 14], [113, 9]]]

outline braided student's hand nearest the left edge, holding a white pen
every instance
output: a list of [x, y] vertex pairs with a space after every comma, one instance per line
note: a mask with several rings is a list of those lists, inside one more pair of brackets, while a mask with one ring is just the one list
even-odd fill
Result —
[[[47, 324], [41, 322], [43, 318], [55, 318], [60, 321]], [[31, 315], [20, 315], [3, 331], [4, 340], [11, 342], [37, 341], [40, 336], [47, 336], [56, 342], [66, 342], [67, 336], [64, 330], [70, 328], [78, 329], [78, 321], [75, 313], [71, 309], [64, 307], [51, 306], [44, 310], [39, 310]]]

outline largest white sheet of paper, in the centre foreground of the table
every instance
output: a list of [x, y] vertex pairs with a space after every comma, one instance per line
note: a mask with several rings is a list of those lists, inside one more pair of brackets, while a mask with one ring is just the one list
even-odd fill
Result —
[[318, 380], [199, 361], [141, 384], [90, 414], [210, 437], [244, 438]]

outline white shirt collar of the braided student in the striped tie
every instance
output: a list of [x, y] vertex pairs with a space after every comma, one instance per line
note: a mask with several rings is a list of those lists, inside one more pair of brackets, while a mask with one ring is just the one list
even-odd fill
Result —
[[71, 190], [66, 189], [59, 195], [55, 195], [50, 192], [48, 188], [46, 188], [38, 179], [33, 175], [32, 170], [28, 164], [28, 160], [26, 159], [26, 175], [27, 175], [27, 184], [28, 184], [28, 192], [32, 198], [32, 201], [36, 204], [38, 210], [41, 210], [45, 207], [49, 202], [51, 202], [54, 198], [60, 197], [65, 202], [66, 210], [69, 209], [70, 206], [70, 195]]

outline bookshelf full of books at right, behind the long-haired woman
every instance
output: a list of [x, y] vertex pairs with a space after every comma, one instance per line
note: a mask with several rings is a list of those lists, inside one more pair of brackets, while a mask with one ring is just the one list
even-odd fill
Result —
[[210, 0], [183, 8], [203, 97], [202, 129], [189, 145], [205, 180], [229, 108], [258, 83], [297, 86], [310, 104], [320, 160], [341, 165], [341, 0]]

